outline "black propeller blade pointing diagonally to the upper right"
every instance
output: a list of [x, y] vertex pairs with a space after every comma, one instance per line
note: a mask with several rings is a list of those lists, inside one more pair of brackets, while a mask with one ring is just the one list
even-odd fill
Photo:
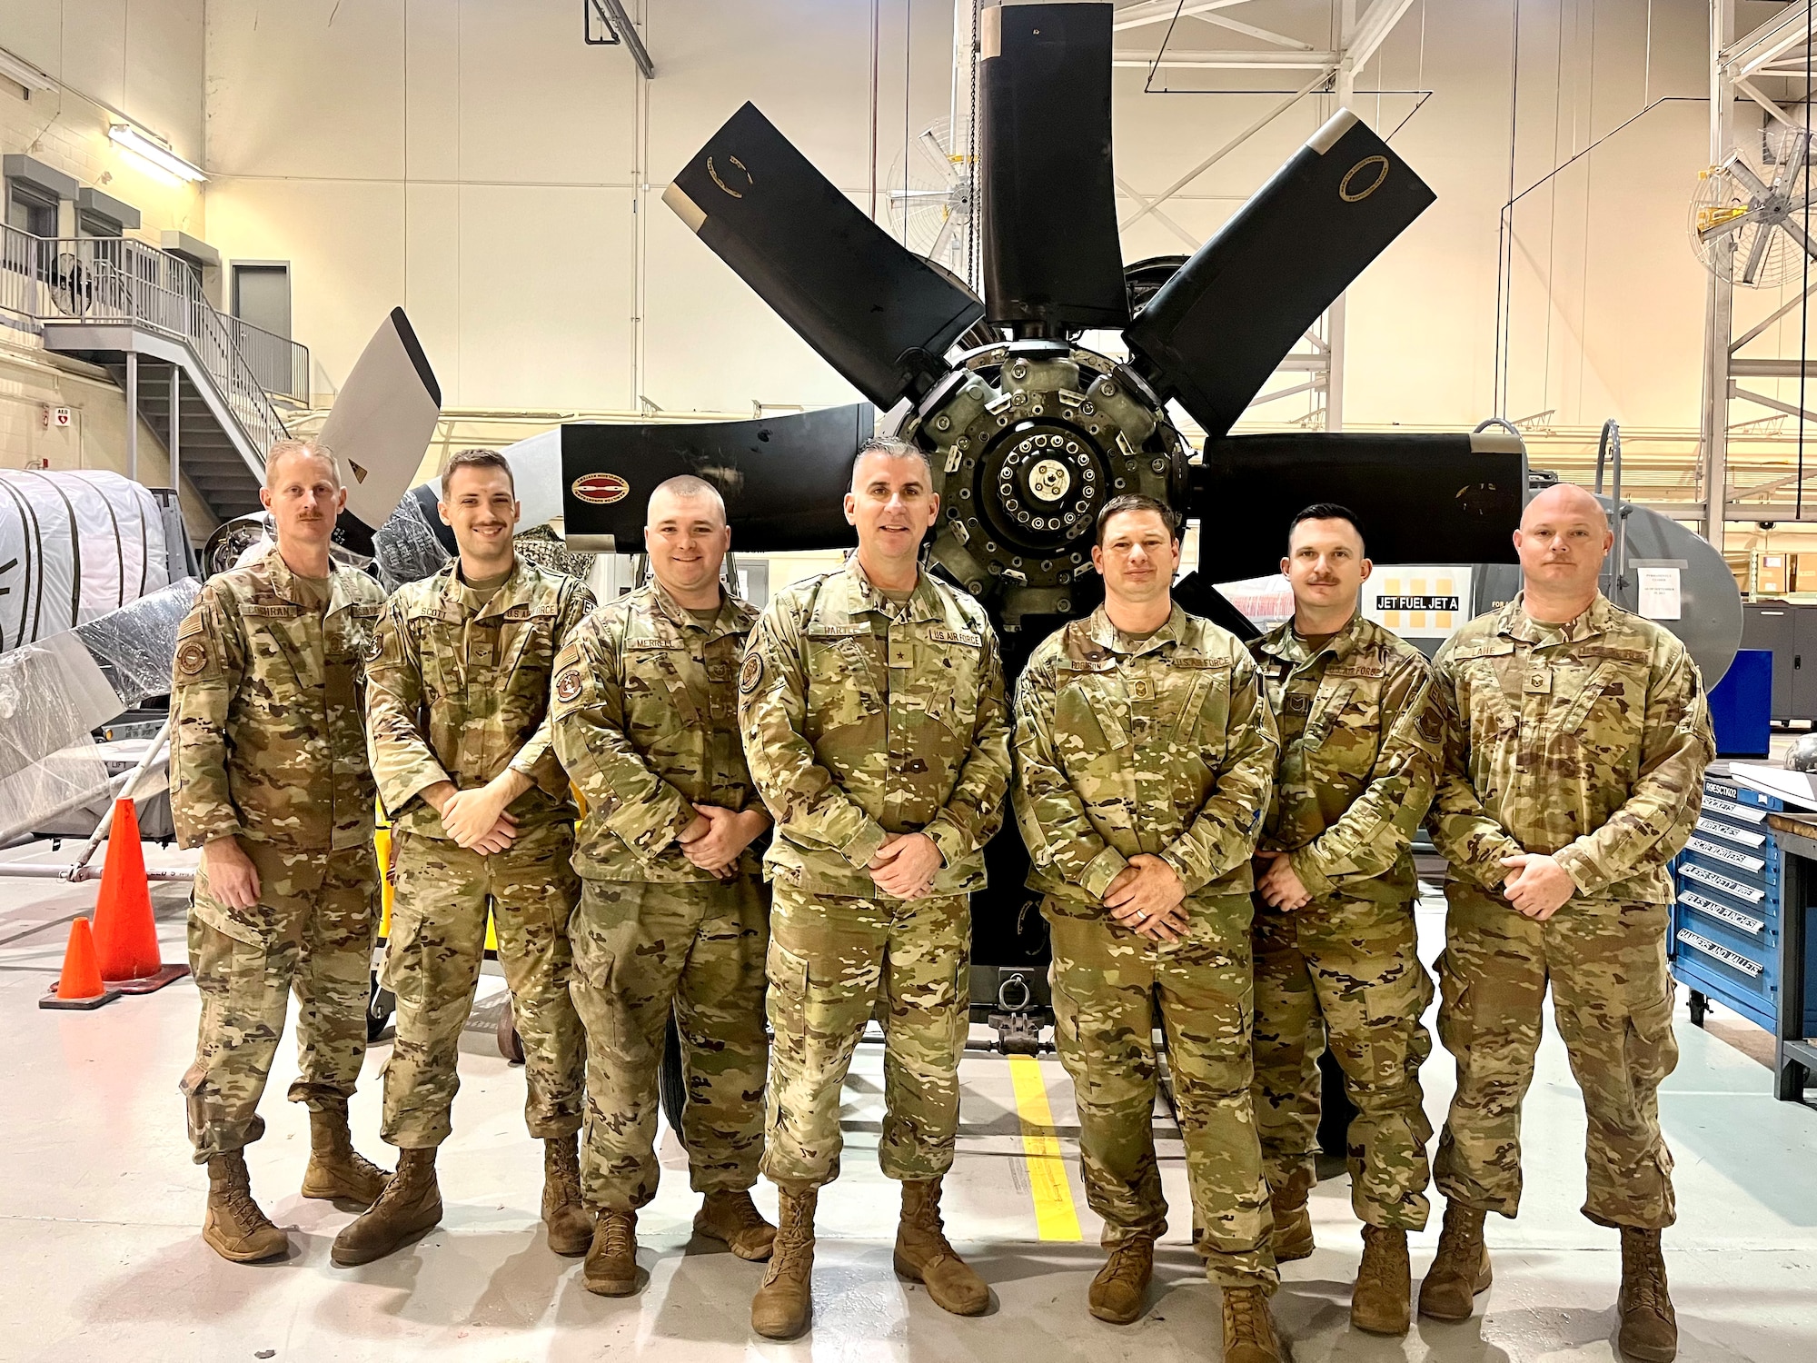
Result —
[[1208, 436], [1434, 193], [1348, 109], [1321, 127], [1123, 333]]

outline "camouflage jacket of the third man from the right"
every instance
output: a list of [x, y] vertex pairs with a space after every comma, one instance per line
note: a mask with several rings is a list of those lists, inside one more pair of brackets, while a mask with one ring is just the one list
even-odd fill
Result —
[[1028, 887], [1090, 912], [1128, 858], [1187, 894], [1246, 894], [1281, 751], [1248, 651], [1174, 614], [1139, 643], [1103, 607], [1048, 634], [1016, 687]]

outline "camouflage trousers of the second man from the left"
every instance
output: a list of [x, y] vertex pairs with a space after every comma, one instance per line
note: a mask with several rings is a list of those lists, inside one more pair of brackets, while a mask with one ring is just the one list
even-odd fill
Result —
[[452, 1130], [460, 1034], [480, 983], [489, 910], [523, 1041], [523, 1119], [538, 1139], [580, 1130], [585, 1050], [569, 998], [569, 916], [580, 898], [572, 849], [567, 823], [525, 829], [492, 856], [445, 838], [394, 834], [396, 892], [380, 972], [398, 996], [380, 1127], [391, 1145], [423, 1150]]

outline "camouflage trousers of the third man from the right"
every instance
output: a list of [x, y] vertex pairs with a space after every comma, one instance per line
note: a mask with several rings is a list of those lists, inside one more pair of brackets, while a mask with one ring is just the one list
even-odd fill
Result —
[[1041, 912], [1054, 941], [1054, 1036], [1072, 1076], [1085, 1199], [1105, 1221], [1103, 1243], [1167, 1230], [1154, 1154], [1159, 1023], [1206, 1276], [1272, 1290], [1274, 1221], [1250, 1096], [1248, 896], [1188, 898], [1187, 936], [1167, 945], [1054, 898]]

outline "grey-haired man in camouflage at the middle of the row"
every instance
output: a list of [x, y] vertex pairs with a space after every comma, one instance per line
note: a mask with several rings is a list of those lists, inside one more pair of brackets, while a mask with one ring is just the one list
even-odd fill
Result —
[[807, 1328], [814, 1203], [839, 1174], [839, 1085], [881, 1000], [883, 1172], [901, 1179], [896, 1270], [976, 1316], [983, 1279], [941, 1230], [968, 1020], [967, 896], [1008, 785], [1003, 663], [983, 609], [919, 569], [939, 514], [927, 454], [872, 442], [845, 516], [858, 551], [770, 602], [740, 672], [752, 780], [776, 816], [763, 1172], [781, 1190], [758, 1334]]

